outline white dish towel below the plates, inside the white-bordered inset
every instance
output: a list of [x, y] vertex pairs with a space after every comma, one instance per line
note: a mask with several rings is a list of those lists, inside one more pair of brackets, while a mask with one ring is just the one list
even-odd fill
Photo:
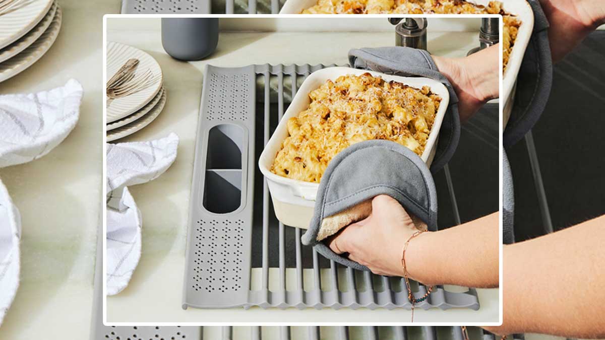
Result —
[[151, 142], [107, 144], [107, 295], [128, 286], [141, 257], [142, 218], [128, 186], [162, 175], [177, 158], [177, 148], [174, 133]]

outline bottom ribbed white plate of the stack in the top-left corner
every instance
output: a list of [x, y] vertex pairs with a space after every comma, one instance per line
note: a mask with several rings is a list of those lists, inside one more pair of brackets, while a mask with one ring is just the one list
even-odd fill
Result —
[[61, 28], [61, 7], [57, 6], [53, 22], [44, 33], [21, 53], [0, 63], [0, 82], [16, 76], [38, 61], [54, 44]]

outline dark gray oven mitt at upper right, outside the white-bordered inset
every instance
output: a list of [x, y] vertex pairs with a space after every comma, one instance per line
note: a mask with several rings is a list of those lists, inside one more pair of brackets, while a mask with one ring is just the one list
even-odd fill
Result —
[[515, 101], [502, 136], [505, 148], [525, 136], [540, 118], [551, 94], [552, 56], [548, 20], [537, 0], [528, 0], [534, 11], [534, 31], [517, 75]]

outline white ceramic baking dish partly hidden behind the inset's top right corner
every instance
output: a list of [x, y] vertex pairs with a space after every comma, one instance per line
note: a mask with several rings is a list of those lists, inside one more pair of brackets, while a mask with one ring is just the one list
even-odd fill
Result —
[[[469, 1], [478, 5], [488, 5], [490, 0], [474, 0]], [[534, 28], [534, 13], [526, 0], [500, 0], [503, 3], [503, 9], [507, 13], [517, 16], [522, 22], [515, 46], [512, 48], [511, 56], [508, 61], [508, 68], [504, 74], [501, 98], [503, 100], [504, 110], [502, 115], [503, 126], [506, 126], [508, 118], [511, 114], [512, 101], [514, 100], [514, 92], [512, 91], [517, 81], [517, 73], [521, 67], [523, 54], [527, 48], [529, 38]], [[302, 10], [312, 7], [317, 4], [317, 0], [286, 0], [284, 7], [281, 8], [280, 14], [299, 14]], [[431, 48], [429, 43], [429, 48]], [[512, 94], [512, 95], [511, 95]]]

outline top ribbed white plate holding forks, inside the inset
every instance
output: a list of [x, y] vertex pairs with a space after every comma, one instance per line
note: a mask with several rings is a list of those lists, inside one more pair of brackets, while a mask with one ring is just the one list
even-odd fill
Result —
[[136, 74], [143, 74], [145, 71], [151, 70], [153, 81], [151, 85], [137, 93], [108, 101], [107, 123], [115, 122], [140, 110], [155, 97], [162, 87], [162, 68], [157, 61], [138, 48], [117, 42], [107, 44], [107, 79], [116, 74], [120, 67], [131, 58], [139, 59]]

